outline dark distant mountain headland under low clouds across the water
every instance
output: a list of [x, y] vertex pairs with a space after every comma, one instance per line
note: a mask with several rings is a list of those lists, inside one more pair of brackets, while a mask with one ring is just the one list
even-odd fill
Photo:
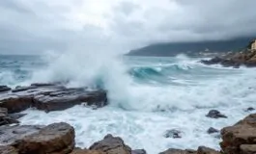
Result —
[[178, 54], [196, 55], [199, 52], [240, 51], [247, 47], [251, 38], [212, 40], [199, 42], [169, 42], [157, 43], [139, 49], [131, 50], [128, 56], [176, 56]]

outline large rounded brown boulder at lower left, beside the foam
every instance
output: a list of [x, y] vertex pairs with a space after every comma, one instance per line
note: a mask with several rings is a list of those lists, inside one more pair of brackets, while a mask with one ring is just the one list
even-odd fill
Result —
[[74, 129], [68, 123], [53, 123], [13, 145], [24, 154], [68, 154], [74, 147]]

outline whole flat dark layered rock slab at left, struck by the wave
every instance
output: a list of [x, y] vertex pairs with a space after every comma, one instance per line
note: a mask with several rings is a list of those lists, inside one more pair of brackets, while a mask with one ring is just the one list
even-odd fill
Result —
[[105, 90], [68, 89], [54, 84], [32, 84], [0, 93], [0, 107], [9, 114], [35, 107], [46, 112], [61, 111], [86, 103], [96, 108], [107, 105]]

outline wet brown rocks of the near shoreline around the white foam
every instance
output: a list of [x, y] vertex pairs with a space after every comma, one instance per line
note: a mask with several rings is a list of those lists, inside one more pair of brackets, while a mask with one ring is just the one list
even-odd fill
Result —
[[[14, 90], [1, 86], [0, 91], [1, 154], [147, 154], [144, 149], [131, 149], [121, 138], [110, 134], [87, 149], [75, 147], [75, 130], [65, 122], [47, 126], [19, 124], [18, 118], [24, 116], [19, 112], [28, 108], [51, 112], [84, 103], [97, 110], [107, 105], [107, 92], [104, 90], [69, 89], [58, 84], [32, 84]], [[216, 110], [210, 111], [206, 116], [228, 118]], [[207, 132], [219, 133], [214, 128]], [[169, 130], [164, 137], [177, 139], [182, 138], [182, 135], [179, 130]], [[221, 129], [220, 137], [221, 151], [200, 146], [196, 150], [170, 148], [159, 154], [255, 154], [256, 114]]]

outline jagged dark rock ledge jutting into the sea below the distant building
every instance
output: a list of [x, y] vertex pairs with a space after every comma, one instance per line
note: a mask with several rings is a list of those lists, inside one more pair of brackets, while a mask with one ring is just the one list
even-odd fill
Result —
[[223, 66], [247, 67], [256, 66], [256, 50], [244, 50], [239, 53], [229, 53], [222, 57], [214, 57], [211, 60], [202, 60], [202, 64], [222, 64]]

